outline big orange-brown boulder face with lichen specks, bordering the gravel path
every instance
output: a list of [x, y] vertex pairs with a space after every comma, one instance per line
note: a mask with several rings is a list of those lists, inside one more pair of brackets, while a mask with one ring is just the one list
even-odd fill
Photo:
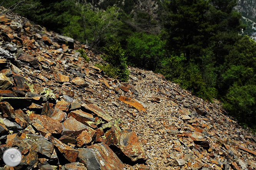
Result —
[[126, 129], [121, 132], [119, 147], [132, 161], [146, 159], [146, 154], [140, 140], [130, 129]]

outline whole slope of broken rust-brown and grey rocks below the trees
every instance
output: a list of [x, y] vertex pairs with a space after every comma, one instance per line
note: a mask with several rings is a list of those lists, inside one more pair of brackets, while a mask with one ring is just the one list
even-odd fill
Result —
[[13, 13], [0, 16], [0, 56], [1, 170], [256, 168], [254, 134], [162, 75], [112, 79], [100, 54]]

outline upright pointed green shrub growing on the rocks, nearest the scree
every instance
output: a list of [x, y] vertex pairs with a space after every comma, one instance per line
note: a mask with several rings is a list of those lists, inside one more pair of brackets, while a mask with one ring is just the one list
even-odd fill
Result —
[[[128, 82], [130, 75], [127, 69], [127, 56], [126, 51], [121, 47], [120, 43], [114, 40], [114, 45], [110, 46], [107, 50], [108, 55], [103, 57], [104, 60], [110, 62], [110, 66], [105, 66], [107, 70], [112, 70], [113, 75], [117, 75], [122, 82]], [[104, 71], [104, 70], [103, 70]]]

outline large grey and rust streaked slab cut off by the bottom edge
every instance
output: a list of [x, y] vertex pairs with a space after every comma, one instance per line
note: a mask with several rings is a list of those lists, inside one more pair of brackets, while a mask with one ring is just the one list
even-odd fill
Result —
[[78, 159], [88, 170], [123, 170], [124, 165], [104, 143], [78, 149]]

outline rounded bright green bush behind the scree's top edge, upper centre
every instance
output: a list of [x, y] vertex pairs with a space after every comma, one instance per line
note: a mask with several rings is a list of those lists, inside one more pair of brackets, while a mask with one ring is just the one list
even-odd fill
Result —
[[165, 56], [163, 46], [165, 42], [157, 35], [135, 33], [127, 39], [130, 65], [147, 70], [155, 70], [161, 59]]

